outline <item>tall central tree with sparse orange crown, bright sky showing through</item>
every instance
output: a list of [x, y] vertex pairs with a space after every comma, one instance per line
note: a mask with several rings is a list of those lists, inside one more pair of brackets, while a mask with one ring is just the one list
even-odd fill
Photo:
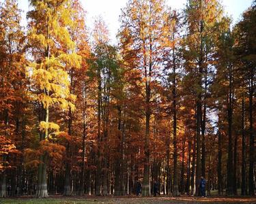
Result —
[[150, 195], [150, 117], [152, 114], [152, 82], [161, 63], [162, 39], [165, 27], [165, 4], [160, 0], [130, 0], [121, 16], [121, 32], [128, 32], [130, 52], [136, 54], [145, 90], [145, 140], [143, 196]]

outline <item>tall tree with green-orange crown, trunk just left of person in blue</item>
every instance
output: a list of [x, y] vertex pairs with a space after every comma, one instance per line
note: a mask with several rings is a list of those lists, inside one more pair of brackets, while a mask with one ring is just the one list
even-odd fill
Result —
[[[216, 53], [216, 37], [218, 26], [223, 20], [223, 9], [219, 1], [193, 0], [188, 1], [184, 10], [187, 33], [184, 37], [185, 69], [193, 76], [193, 92], [196, 100], [196, 192], [199, 194], [199, 181], [202, 173], [202, 133], [205, 133], [203, 120], [203, 80], [207, 80], [207, 69], [213, 64]], [[206, 107], [204, 107], [206, 110]], [[203, 130], [203, 132], [202, 132]], [[203, 158], [201, 158], [203, 156]], [[203, 167], [204, 169], [204, 167]]]

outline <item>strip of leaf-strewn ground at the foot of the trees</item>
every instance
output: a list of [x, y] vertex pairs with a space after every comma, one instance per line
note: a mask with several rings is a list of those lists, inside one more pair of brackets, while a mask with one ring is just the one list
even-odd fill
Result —
[[0, 204], [169, 204], [169, 203], [251, 203], [256, 204], [256, 197], [48, 197], [47, 199], [35, 199], [31, 197], [17, 197], [0, 199]]

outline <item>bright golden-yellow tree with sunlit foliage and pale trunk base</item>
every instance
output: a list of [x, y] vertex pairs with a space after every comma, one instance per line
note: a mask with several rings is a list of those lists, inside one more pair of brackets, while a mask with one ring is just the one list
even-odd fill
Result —
[[74, 110], [75, 96], [70, 94], [70, 81], [66, 66], [79, 67], [80, 57], [75, 53], [75, 44], [70, 38], [67, 27], [72, 27], [70, 1], [30, 1], [33, 10], [28, 13], [28, 42], [32, 56], [28, 66], [31, 78], [31, 95], [40, 103], [40, 164], [38, 167], [38, 197], [48, 197], [46, 168], [48, 156], [46, 147], [53, 137], [59, 134], [59, 126], [50, 122], [51, 107]]

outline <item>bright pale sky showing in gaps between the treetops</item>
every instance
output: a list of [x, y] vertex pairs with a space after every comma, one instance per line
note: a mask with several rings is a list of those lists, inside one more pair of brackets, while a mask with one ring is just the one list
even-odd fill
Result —
[[[3, 0], [0, 0], [3, 2]], [[109, 27], [111, 41], [116, 44], [116, 34], [119, 28], [119, 15], [122, 7], [125, 7], [127, 0], [83, 0], [81, 1], [85, 11], [87, 12], [87, 26], [89, 31], [93, 27], [94, 19], [102, 16]], [[166, 0], [167, 5], [173, 9], [181, 10], [184, 8], [186, 0]], [[238, 22], [242, 12], [251, 5], [251, 0], [223, 0], [225, 11], [232, 16], [233, 24]], [[20, 9], [23, 10], [23, 24], [26, 24], [26, 12], [29, 10], [27, 0], [18, 0]]]

